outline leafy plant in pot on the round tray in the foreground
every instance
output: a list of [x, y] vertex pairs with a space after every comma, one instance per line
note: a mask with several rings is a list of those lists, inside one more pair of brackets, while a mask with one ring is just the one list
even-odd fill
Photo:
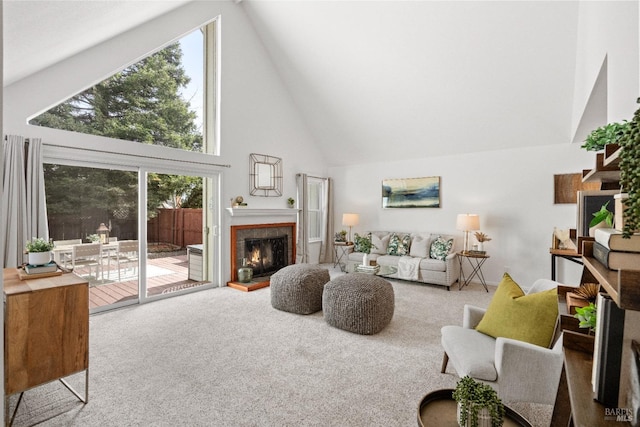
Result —
[[464, 376], [456, 384], [452, 397], [458, 402], [461, 427], [493, 427], [504, 423], [504, 405], [490, 385]]

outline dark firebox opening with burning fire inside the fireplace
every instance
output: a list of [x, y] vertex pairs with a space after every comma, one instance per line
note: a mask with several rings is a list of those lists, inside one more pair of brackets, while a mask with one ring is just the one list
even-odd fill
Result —
[[253, 269], [253, 277], [275, 273], [287, 262], [287, 236], [258, 237], [244, 240], [244, 257]]

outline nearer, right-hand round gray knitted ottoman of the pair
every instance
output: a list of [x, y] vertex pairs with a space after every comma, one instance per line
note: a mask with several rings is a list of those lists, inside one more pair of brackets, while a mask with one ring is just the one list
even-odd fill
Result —
[[324, 286], [322, 310], [331, 326], [362, 335], [377, 334], [393, 317], [391, 283], [379, 276], [350, 273]]

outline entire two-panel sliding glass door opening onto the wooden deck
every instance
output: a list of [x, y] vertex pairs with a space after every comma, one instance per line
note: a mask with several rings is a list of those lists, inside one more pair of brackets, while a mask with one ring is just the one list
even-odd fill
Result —
[[92, 312], [211, 287], [216, 177], [45, 164], [58, 264], [89, 282]]

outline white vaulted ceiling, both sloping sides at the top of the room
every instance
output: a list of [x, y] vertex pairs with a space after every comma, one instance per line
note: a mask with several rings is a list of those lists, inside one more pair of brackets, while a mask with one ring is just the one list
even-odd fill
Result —
[[[187, 2], [5, 1], [4, 84]], [[237, 7], [332, 164], [571, 141], [577, 2]]]

